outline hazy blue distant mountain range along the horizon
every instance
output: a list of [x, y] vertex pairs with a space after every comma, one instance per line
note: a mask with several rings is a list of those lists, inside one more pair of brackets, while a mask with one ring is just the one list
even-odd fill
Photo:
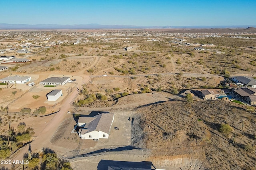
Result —
[[[248, 28], [247, 28], [248, 27]], [[250, 28], [255, 29], [256, 25], [232, 25], [232, 26], [136, 26], [136, 25], [100, 25], [97, 23], [78, 24], [78, 25], [59, 25], [59, 24], [9, 24], [0, 23], [0, 29], [143, 29], [143, 28]]]

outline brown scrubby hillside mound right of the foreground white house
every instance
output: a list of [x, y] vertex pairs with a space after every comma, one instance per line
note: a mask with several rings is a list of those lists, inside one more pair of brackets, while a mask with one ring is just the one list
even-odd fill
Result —
[[[255, 168], [256, 116], [246, 111], [246, 106], [225, 101], [187, 104], [179, 100], [141, 107], [138, 113], [141, 114], [134, 117], [137, 119], [134, 127], [141, 130], [133, 136], [137, 137], [133, 141], [138, 141], [137, 146], [151, 149], [155, 161], [162, 156], [171, 161], [175, 156], [176, 162], [183, 162], [179, 159], [186, 155], [185, 169], [186, 164], [194, 164], [198, 169], [200, 163], [196, 160], [204, 162], [202, 169]], [[246, 129], [241, 131], [243, 121]], [[222, 124], [230, 125], [233, 131], [220, 133]], [[164, 166], [165, 162], [158, 163]]]

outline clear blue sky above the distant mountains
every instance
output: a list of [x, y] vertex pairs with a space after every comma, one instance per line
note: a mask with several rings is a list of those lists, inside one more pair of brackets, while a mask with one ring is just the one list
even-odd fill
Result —
[[256, 25], [256, 0], [0, 0], [0, 23]]

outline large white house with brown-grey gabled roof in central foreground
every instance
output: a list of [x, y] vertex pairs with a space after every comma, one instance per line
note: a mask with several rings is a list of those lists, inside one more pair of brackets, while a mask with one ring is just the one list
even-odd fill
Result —
[[79, 117], [78, 127], [81, 139], [108, 139], [114, 113], [100, 113], [94, 117]]

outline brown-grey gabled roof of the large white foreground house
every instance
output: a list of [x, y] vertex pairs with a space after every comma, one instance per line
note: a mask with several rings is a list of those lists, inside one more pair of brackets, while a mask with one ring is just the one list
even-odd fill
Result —
[[114, 118], [114, 113], [100, 113], [94, 117], [95, 118], [91, 119], [90, 122], [80, 122], [81, 119], [78, 119], [79, 123], [86, 123], [84, 128], [81, 130], [81, 134], [84, 135], [85, 133], [89, 133], [92, 131], [102, 131], [105, 133], [109, 132]]

